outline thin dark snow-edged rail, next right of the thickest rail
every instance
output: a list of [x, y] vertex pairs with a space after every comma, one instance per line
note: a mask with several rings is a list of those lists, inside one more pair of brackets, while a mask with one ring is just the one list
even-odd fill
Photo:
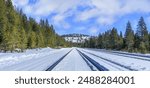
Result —
[[[130, 67], [125, 66], [125, 65], [123, 65], [123, 64], [117, 63], [117, 62], [115, 62], [115, 61], [112, 61], [112, 60], [103, 58], [103, 57], [101, 57], [101, 56], [98, 56], [98, 55], [96, 55], [96, 54], [90, 53], [90, 52], [88, 52], [88, 51], [84, 51], [84, 50], [82, 50], [82, 51], [85, 52], [85, 53], [88, 53], [88, 54], [90, 54], [90, 55], [93, 55], [93, 56], [95, 56], [95, 57], [98, 57], [99, 59], [102, 59], [102, 60], [104, 60], [104, 61], [107, 61], [107, 62], [111, 63], [111, 66], [115, 67], [115, 68], [118, 69], [118, 70], [122, 70], [122, 69], [120, 69], [120, 67], [121, 67], [121, 68], [127, 69], [127, 70], [129, 70], [129, 71], [137, 71], [136, 69], [133, 69], [133, 68], [130, 68]], [[114, 64], [115, 66], [112, 65], [112, 64]], [[117, 66], [116, 66], [116, 65], [117, 65]], [[119, 67], [119, 68], [118, 68], [118, 67]]]

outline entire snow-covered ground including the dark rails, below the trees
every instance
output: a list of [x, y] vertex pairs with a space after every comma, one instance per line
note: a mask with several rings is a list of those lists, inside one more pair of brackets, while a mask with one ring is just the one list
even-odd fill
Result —
[[150, 58], [97, 49], [33, 49], [0, 53], [1, 71], [150, 71]]

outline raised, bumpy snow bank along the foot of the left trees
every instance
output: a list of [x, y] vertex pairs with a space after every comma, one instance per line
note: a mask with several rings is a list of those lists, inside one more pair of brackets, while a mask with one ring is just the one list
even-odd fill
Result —
[[57, 49], [47, 47], [41, 49], [28, 49], [23, 53], [0, 53], [0, 68], [10, 66], [25, 60], [45, 56], [55, 50]]

